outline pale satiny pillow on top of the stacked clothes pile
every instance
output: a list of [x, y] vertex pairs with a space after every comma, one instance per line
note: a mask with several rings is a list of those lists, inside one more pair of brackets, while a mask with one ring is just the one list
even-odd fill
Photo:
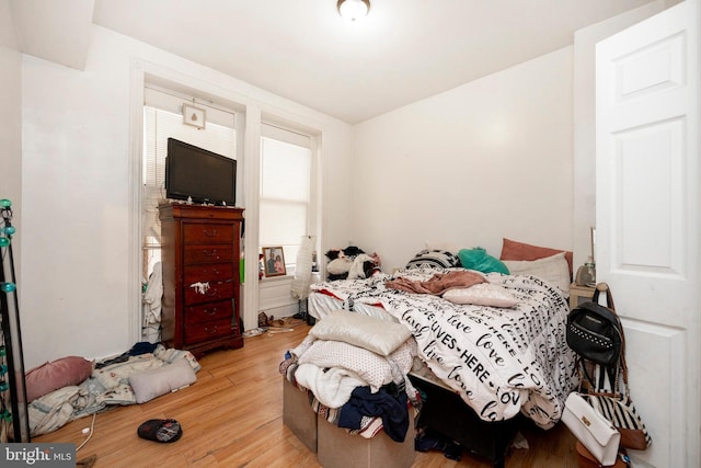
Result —
[[318, 340], [342, 341], [388, 356], [411, 336], [411, 331], [401, 323], [335, 310], [318, 321], [309, 334]]

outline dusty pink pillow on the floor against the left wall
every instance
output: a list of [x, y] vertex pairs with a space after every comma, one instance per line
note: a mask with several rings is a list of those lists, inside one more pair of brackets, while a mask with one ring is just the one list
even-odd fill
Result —
[[44, 363], [26, 373], [26, 399], [32, 402], [59, 388], [82, 384], [92, 374], [92, 363], [84, 357], [67, 356]]

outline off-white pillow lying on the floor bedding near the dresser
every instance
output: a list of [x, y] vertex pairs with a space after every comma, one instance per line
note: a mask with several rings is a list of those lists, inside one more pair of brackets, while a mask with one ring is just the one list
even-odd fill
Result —
[[137, 403], [146, 403], [156, 397], [193, 384], [195, 380], [197, 380], [195, 370], [184, 357], [173, 364], [129, 376], [129, 385], [134, 390]]

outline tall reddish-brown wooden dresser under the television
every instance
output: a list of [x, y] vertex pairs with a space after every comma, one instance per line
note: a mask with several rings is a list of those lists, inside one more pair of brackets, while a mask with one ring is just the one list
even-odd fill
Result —
[[196, 356], [241, 347], [242, 208], [159, 206], [163, 265], [162, 341]]

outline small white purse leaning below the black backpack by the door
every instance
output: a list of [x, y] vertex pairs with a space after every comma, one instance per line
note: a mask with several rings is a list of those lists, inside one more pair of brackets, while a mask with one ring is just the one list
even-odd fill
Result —
[[616, 463], [621, 434], [579, 393], [567, 397], [562, 422], [601, 465]]

